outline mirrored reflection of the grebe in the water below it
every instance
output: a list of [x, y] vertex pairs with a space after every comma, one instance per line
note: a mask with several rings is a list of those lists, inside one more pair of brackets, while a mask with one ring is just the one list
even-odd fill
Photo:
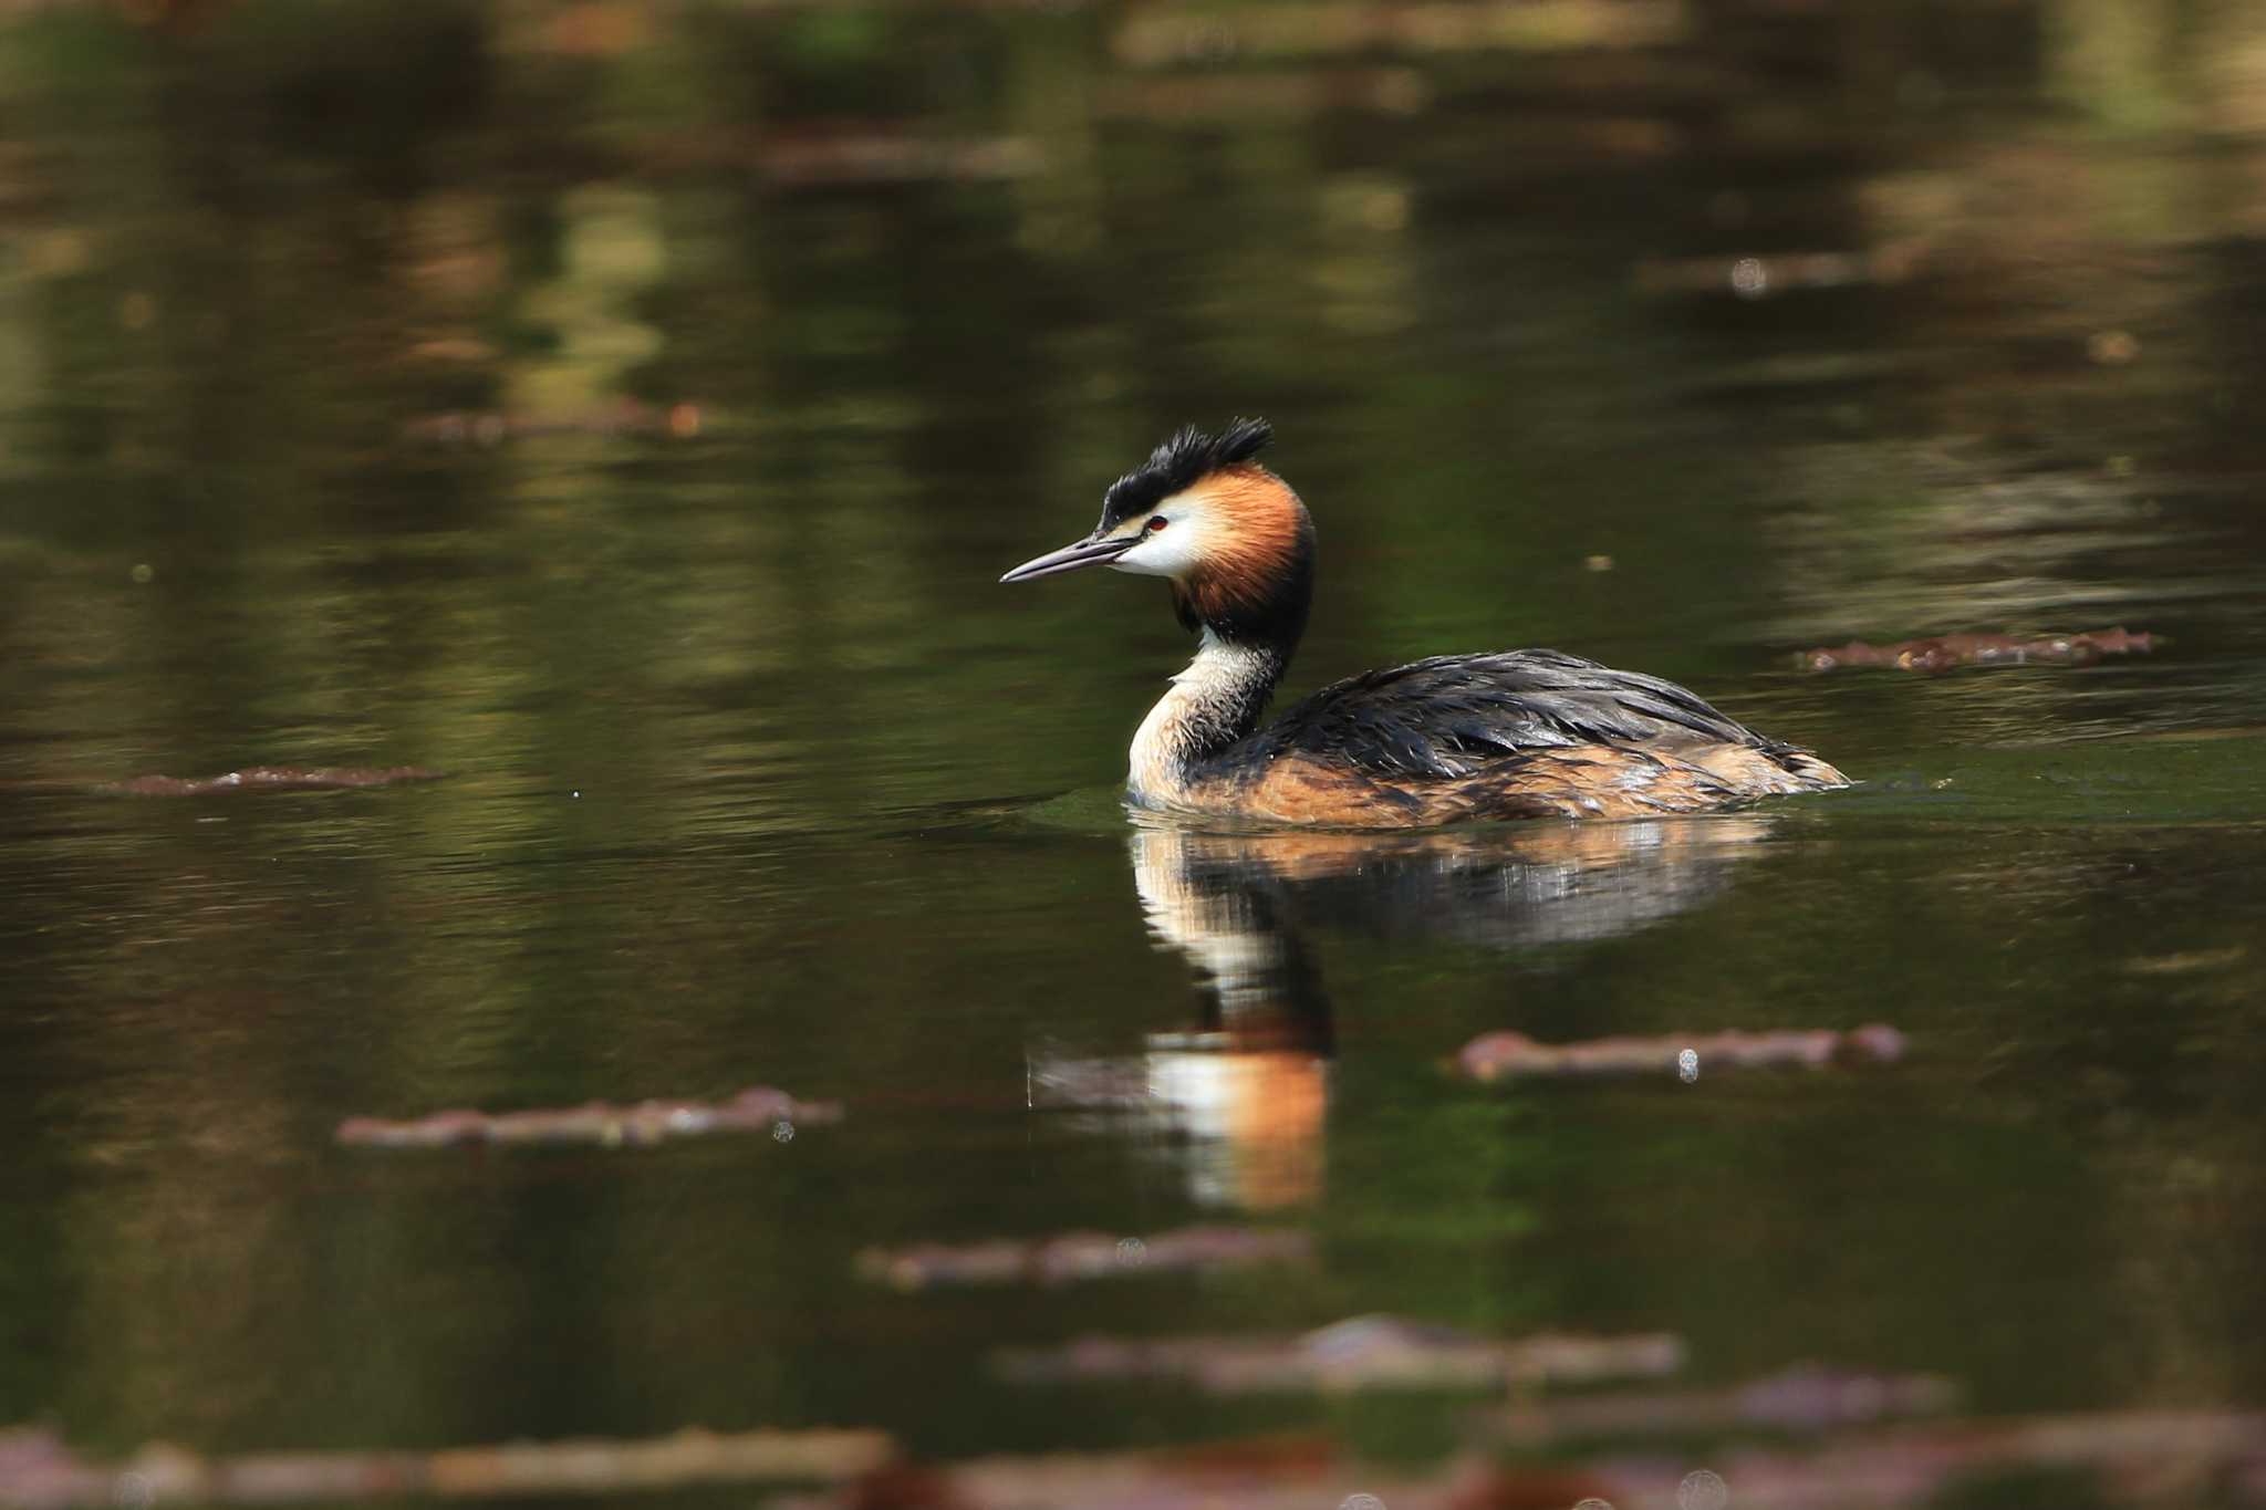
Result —
[[1765, 833], [1758, 815], [1394, 835], [1135, 829], [1142, 912], [1196, 967], [1203, 1019], [1149, 1035], [1138, 1059], [1040, 1059], [1033, 1091], [1133, 1109], [1185, 1139], [1208, 1204], [1314, 1200], [1332, 1028], [1310, 928], [1493, 949], [1618, 937], [1722, 892]]

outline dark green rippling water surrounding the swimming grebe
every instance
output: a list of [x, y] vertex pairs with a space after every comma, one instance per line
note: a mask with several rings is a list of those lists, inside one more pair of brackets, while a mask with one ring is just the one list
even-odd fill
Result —
[[[0, 27], [0, 1424], [1446, 1449], [1448, 1413], [983, 1365], [1360, 1311], [1666, 1329], [1702, 1381], [1926, 1370], [1987, 1413], [2266, 1404], [2246, 7], [1700, 7], [1564, 57], [1228, 63], [1382, 77], [1389, 109], [1319, 113], [1187, 104], [1210, 66], [1115, 54], [1117, 11], [696, 7], [619, 50], [313, 16]], [[895, 118], [1036, 158], [775, 156]], [[1908, 276], [1661, 288], [1883, 247]], [[566, 423], [623, 398], [698, 423]], [[1135, 829], [1110, 790], [1187, 654], [1162, 591], [995, 577], [1233, 412], [1276, 421], [1321, 530], [1294, 690], [1557, 645], [1863, 786], [1391, 844]], [[446, 444], [435, 414], [564, 421]], [[1792, 661], [2110, 625], [2171, 643]], [[254, 763], [451, 779], [95, 790]], [[1498, 1028], [1869, 1021], [1908, 1062], [1441, 1073]], [[1176, 1089], [1042, 1093], [1092, 1062]], [[746, 1084], [847, 1116], [331, 1139]], [[1321, 1261], [852, 1270], [1194, 1220]]]

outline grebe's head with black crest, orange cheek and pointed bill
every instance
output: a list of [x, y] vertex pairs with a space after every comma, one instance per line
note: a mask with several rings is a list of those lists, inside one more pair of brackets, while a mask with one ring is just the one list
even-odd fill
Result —
[[1253, 460], [1269, 439], [1264, 419], [1237, 419], [1219, 435], [1183, 428], [1110, 482], [1092, 534], [999, 580], [1088, 566], [1169, 577], [1187, 627], [1294, 643], [1314, 591], [1314, 523], [1298, 494]]

